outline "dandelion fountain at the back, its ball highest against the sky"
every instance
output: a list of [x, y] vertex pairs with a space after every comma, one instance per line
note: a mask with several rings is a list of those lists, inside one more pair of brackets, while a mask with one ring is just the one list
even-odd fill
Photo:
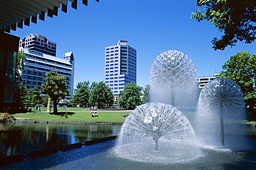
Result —
[[196, 106], [196, 69], [187, 54], [177, 50], [162, 52], [154, 59], [149, 78], [151, 101], [179, 109]]

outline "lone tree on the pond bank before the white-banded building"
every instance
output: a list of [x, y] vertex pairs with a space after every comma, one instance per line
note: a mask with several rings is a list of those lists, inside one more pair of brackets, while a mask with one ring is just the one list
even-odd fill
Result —
[[66, 85], [66, 76], [60, 76], [56, 70], [51, 70], [46, 73], [45, 83], [42, 84], [42, 89], [53, 101], [53, 114], [57, 114], [57, 103], [68, 95], [68, 87]]

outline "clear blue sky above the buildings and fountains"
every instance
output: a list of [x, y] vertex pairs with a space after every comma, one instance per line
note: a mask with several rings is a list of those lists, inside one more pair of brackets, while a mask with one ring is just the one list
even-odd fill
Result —
[[212, 76], [231, 55], [240, 51], [256, 54], [256, 43], [237, 43], [226, 50], [213, 50], [212, 39], [222, 33], [208, 21], [190, 19], [196, 0], [89, 0], [77, 10], [68, 2], [67, 14], [46, 17], [11, 34], [21, 37], [42, 34], [57, 43], [57, 57], [75, 56], [75, 86], [83, 81], [104, 81], [104, 47], [119, 40], [137, 50], [137, 84], [149, 84], [149, 68], [158, 54], [179, 50], [188, 54], [198, 76]]

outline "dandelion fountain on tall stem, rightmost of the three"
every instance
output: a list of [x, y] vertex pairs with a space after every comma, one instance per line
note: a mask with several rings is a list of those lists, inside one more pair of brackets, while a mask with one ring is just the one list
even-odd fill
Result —
[[[244, 95], [234, 81], [226, 78], [210, 81], [203, 87], [199, 96], [196, 115], [198, 138], [207, 139], [212, 145], [224, 145], [224, 116], [232, 125], [241, 125], [239, 121], [246, 119], [245, 111]], [[239, 127], [240, 131], [241, 129], [244, 128]], [[219, 136], [221, 142], [218, 142]]]

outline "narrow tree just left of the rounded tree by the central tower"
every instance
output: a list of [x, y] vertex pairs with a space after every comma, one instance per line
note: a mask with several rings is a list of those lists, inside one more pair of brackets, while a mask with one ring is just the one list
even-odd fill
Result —
[[77, 88], [75, 89], [75, 93], [71, 100], [72, 105], [86, 105], [89, 103], [89, 95], [90, 95], [90, 88], [89, 88], [89, 81], [84, 81], [82, 83], [77, 84]]

